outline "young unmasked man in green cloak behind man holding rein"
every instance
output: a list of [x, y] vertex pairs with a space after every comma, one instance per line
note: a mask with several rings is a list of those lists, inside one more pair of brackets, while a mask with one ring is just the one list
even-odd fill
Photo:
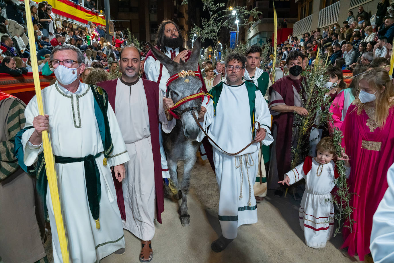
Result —
[[[245, 73], [243, 74], [243, 79], [247, 82], [255, 84], [256, 88], [261, 91], [261, 94], [268, 103], [268, 87], [272, 85], [272, 82], [269, 79], [268, 73], [257, 67], [257, 65], [260, 64], [261, 53], [262, 50], [258, 46], [251, 46], [246, 50], [246, 68]], [[266, 164], [269, 162], [269, 146], [262, 145], [261, 152], [262, 155], [259, 155], [258, 159], [258, 165], [261, 167], [261, 169], [258, 169], [256, 182], [253, 185], [253, 189], [255, 190], [255, 198], [257, 201], [261, 201], [265, 196], [267, 196]]]

